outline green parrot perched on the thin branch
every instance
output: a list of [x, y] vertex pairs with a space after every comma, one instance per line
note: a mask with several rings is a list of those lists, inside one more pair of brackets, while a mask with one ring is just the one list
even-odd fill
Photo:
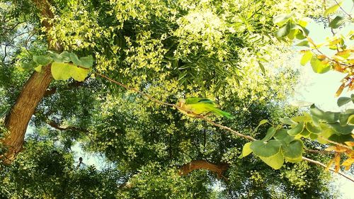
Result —
[[176, 106], [181, 107], [178, 108], [181, 113], [192, 118], [197, 117], [197, 115], [208, 115], [210, 113], [215, 113], [226, 118], [234, 118], [230, 113], [216, 108], [215, 103], [208, 98], [179, 98]]

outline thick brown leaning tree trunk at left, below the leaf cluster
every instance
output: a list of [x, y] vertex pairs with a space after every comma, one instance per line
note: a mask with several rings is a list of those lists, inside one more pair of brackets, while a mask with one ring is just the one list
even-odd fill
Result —
[[16, 103], [6, 116], [5, 125], [9, 133], [4, 140], [1, 140], [8, 149], [6, 154], [3, 155], [4, 164], [11, 164], [16, 154], [21, 151], [30, 118], [51, 81], [50, 65], [43, 67], [40, 73], [34, 72], [23, 86]]

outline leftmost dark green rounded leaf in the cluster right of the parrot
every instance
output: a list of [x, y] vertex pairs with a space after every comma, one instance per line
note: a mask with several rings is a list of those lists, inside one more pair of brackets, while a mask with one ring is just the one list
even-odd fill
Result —
[[251, 150], [258, 157], [271, 157], [278, 154], [280, 146], [281, 143], [278, 140], [269, 140], [268, 142], [256, 140], [252, 142]]

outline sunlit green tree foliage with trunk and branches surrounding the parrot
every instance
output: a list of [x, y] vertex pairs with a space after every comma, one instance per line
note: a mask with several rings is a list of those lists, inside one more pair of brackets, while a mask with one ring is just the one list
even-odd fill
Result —
[[[301, 64], [311, 59], [315, 72], [353, 67], [344, 42], [328, 45], [341, 44], [344, 60], [318, 57], [307, 36], [304, 17], [321, 19], [334, 6], [0, 0], [1, 197], [335, 196], [316, 164], [334, 153], [338, 172], [347, 153], [350, 169], [353, 110], [287, 105], [299, 76], [292, 40], [314, 46]], [[336, 18], [331, 28], [343, 25]], [[190, 97], [234, 117], [183, 115], [175, 103]], [[79, 160], [77, 146], [104, 161]]]

